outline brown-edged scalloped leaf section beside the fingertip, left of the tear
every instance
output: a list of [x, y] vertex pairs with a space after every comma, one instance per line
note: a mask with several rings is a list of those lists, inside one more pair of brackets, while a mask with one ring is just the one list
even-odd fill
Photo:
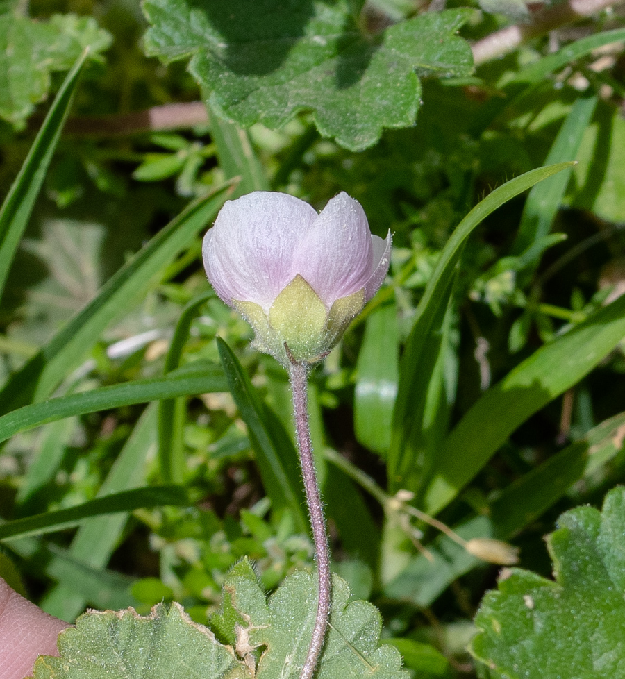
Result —
[[58, 636], [59, 657], [38, 657], [31, 679], [249, 679], [231, 646], [219, 644], [181, 605], [89, 611]]

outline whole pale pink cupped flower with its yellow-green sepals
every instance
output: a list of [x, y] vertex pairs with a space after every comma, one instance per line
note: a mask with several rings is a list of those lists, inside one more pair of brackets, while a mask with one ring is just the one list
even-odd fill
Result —
[[203, 242], [208, 280], [252, 326], [254, 344], [288, 364], [320, 360], [376, 294], [390, 232], [372, 235], [358, 201], [341, 193], [321, 213], [283, 193], [228, 201]]

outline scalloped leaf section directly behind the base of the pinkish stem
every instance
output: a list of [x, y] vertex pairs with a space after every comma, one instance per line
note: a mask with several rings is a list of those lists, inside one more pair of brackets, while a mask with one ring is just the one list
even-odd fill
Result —
[[[256, 679], [298, 679], [317, 612], [317, 578], [305, 571], [289, 576], [265, 598], [247, 562], [226, 579], [228, 604], [240, 615], [235, 650], [250, 664], [262, 651]], [[244, 623], [241, 623], [244, 621]], [[349, 585], [333, 577], [330, 626], [316, 679], [408, 679], [401, 655], [380, 646], [382, 619], [367, 601], [349, 601]]]

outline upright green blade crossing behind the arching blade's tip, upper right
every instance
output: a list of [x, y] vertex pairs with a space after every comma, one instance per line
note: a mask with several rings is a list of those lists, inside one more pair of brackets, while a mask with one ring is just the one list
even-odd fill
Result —
[[[597, 97], [577, 99], [560, 127], [558, 136], [545, 160], [545, 165], [575, 160], [596, 106]], [[553, 219], [562, 205], [562, 198], [567, 190], [572, 171], [573, 168], [569, 167], [560, 174], [532, 187], [525, 201], [521, 224], [512, 246], [513, 254], [522, 253], [529, 246], [547, 236]]]

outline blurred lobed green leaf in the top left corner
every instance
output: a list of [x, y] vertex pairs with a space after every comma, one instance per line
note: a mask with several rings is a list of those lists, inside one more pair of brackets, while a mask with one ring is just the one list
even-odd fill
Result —
[[98, 58], [112, 40], [92, 17], [0, 14], [0, 118], [22, 126], [48, 94], [51, 72], [69, 71], [85, 47]]

